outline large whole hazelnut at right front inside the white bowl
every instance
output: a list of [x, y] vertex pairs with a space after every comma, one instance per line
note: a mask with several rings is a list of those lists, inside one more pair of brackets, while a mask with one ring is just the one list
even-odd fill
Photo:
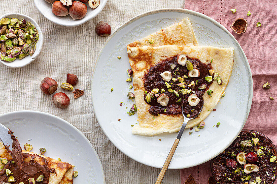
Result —
[[72, 6], [69, 7], [69, 15], [73, 20], [82, 19], [87, 12], [87, 7], [80, 1], [74, 1]]

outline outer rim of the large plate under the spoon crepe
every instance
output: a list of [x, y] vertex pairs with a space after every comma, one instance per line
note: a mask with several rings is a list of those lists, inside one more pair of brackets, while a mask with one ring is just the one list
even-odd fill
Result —
[[[137, 19], [140, 19], [142, 17], [145, 17], [147, 15], [152, 15], [152, 14], [156, 14], [156, 13], [160, 13], [160, 12], [179, 12], [179, 13], [186, 13], [186, 14], [191, 14], [191, 15], [196, 15], [198, 17], [201, 17], [203, 19], [206, 19], [208, 21], [210, 21], [211, 23], [213, 23], [214, 25], [216, 25], [217, 27], [221, 28], [223, 31], [225, 31], [234, 41], [235, 43], [237, 44], [237, 47], [242, 51], [242, 56], [244, 57], [245, 61], [248, 61], [247, 60], [247, 57], [242, 49], [242, 47], [240, 46], [240, 44], [238, 43], [238, 41], [235, 39], [235, 37], [230, 33], [230, 31], [228, 31], [223, 25], [221, 25], [220, 23], [218, 23], [216, 20], [212, 19], [211, 17], [208, 17], [207, 15], [204, 15], [204, 14], [201, 14], [199, 12], [196, 12], [196, 11], [193, 11], [193, 10], [188, 10], [188, 9], [182, 9], [182, 8], [162, 8], [162, 9], [156, 9], [156, 10], [151, 10], [149, 12], [145, 12], [145, 13], [142, 13], [140, 15], [137, 15], [135, 17], [133, 17], [132, 19], [128, 20], [127, 22], [125, 22], [124, 24], [122, 24], [114, 33], [112, 33], [112, 35], [108, 38], [108, 40], [105, 42], [105, 44], [103, 45], [102, 49], [100, 50], [99, 54], [98, 54], [98, 57], [96, 59], [96, 62], [94, 64], [94, 68], [93, 68], [93, 73], [92, 73], [92, 78], [91, 78], [91, 100], [92, 100], [92, 104], [93, 104], [93, 109], [94, 109], [94, 112], [96, 112], [96, 108], [94, 108], [94, 102], [93, 102], [93, 77], [94, 77], [94, 73], [95, 73], [95, 70], [96, 70], [96, 67], [99, 63], [99, 59], [100, 59], [100, 56], [103, 52], [103, 48], [107, 45], [107, 43], [111, 40], [112, 37], [114, 37], [114, 35], [120, 31], [123, 27], [125, 27], [126, 25], [129, 25], [130, 23], [134, 22], [135, 20]], [[222, 153], [223, 150], [225, 150], [226, 148], [228, 148], [228, 146], [230, 146], [230, 144], [232, 142], [234, 142], [234, 140], [236, 139], [236, 137], [238, 136], [238, 134], [241, 132], [242, 128], [244, 127], [245, 125], [245, 122], [248, 118], [248, 115], [249, 115], [249, 112], [250, 112], [250, 108], [251, 108], [251, 104], [252, 104], [252, 98], [253, 98], [253, 79], [252, 79], [252, 73], [251, 73], [251, 69], [250, 69], [250, 65], [249, 63], [247, 62], [246, 63], [246, 67], [247, 69], [249, 70], [249, 73], [248, 73], [248, 77], [250, 79], [250, 95], [248, 96], [248, 106], [247, 106], [247, 113], [245, 114], [245, 118], [244, 118], [244, 123], [242, 124], [242, 126], [240, 127], [240, 130], [237, 132], [236, 136], [233, 138], [233, 140], [230, 141], [230, 143], [222, 148], [221, 150], [219, 150], [217, 152], [217, 154], [215, 154], [215, 156], [212, 156], [210, 158], [207, 158], [206, 160], [202, 161], [202, 162], [198, 162], [196, 164], [193, 164], [189, 167], [193, 167], [193, 166], [196, 166], [196, 165], [200, 165], [200, 164], [203, 164], [209, 160], [211, 160], [212, 158], [216, 157], [217, 155], [219, 155], [220, 153]], [[96, 113], [95, 113], [96, 115]], [[98, 117], [96, 116], [96, 119], [98, 120]], [[99, 120], [98, 120], [99, 122]], [[156, 168], [161, 168], [161, 167], [157, 167], [155, 165], [152, 165], [152, 164], [149, 164], [149, 163], [146, 163], [146, 162], [143, 162], [143, 161], [140, 161], [138, 159], [135, 159], [133, 158], [131, 155], [127, 154], [123, 149], [121, 149], [120, 145], [118, 145], [115, 141], [113, 141], [111, 139], [111, 137], [107, 134], [107, 132], [105, 131], [104, 127], [102, 127], [102, 125], [100, 123], [98, 123], [99, 126], [101, 127], [102, 131], [105, 133], [105, 135], [107, 136], [107, 138], [112, 142], [112, 144], [114, 144], [114, 146], [116, 146], [117, 149], [119, 149], [122, 153], [124, 153], [125, 155], [127, 155], [128, 157], [130, 157], [131, 159], [137, 161], [137, 162], [140, 162], [142, 164], [145, 164], [145, 165], [148, 165], [148, 166], [151, 166], [151, 167], [156, 167]], [[185, 169], [185, 168], [189, 168], [189, 167], [168, 167], [168, 169]]]

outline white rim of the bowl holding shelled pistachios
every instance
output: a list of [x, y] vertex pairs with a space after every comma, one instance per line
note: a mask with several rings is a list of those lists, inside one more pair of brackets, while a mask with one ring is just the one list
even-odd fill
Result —
[[[6, 14], [2, 15], [0, 17], [0, 19], [4, 18], [6, 16], [9, 16], [9, 15], [15, 15], [17, 17], [18, 16], [22, 16], [22, 17], [25, 17], [27, 19], [30, 19], [30, 22], [35, 25], [35, 27], [37, 28], [37, 30], [39, 32], [39, 41], [41, 40], [39, 45], [38, 45], [38, 43], [36, 43], [36, 50], [35, 50], [36, 53], [34, 53], [34, 55], [31, 56], [30, 60], [28, 62], [25, 62], [23, 65], [20, 65], [20, 66], [11, 66], [9, 64], [12, 64], [12, 62], [5, 62], [5, 61], [0, 60], [1, 63], [3, 63], [4, 65], [6, 65], [8, 67], [11, 67], [11, 68], [21, 68], [21, 67], [24, 67], [26, 65], [29, 65], [31, 62], [33, 62], [37, 58], [37, 56], [39, 56], [40, 51], [42, 49], [42, 44], [43, 44], [43, 35], [42, 35], [42, 31], [41, 31], [41, 28], [40, 28], [39, 24], [34, 19], [32, 19], [31, 17], [29, 17], [27, 15], [11, 12], [11, 13], [6, 13]], [[23, 59], [25, 59], [25, 58], [23, 58]]]

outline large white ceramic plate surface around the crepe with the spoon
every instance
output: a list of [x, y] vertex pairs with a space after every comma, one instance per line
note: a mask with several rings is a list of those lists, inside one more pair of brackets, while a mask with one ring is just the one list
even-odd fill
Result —
[[[177, 133], [132, 135], [131, 125], [137, 123], [137, 115], [127, 114], [134, 101], [127, 98], [127, 93], [133, 92], [129, 90], [133, 83], [125, 82], [129, 78], [126, 70], [130, 68], [126, 46], [185, 17], [191, 20], [200, 45], [235, 48], [234, 67], [226, 95], [220, 99], [216, 111], [204, 120], [204, 129], [193, 131], [192, 135], [189, 129], [184, 131], [169, 168], [192, 167], [220, 154], [242, 130], [252, 102], [252, 75], [247, 58], [231, 33], [218, 22], [185, 9], [154, 10], [129, 20], [100, 51], [93, 70], [92, 101], [99, 125], [109, 140], [127, 156], [152, 167], [162, 167]], [[221, 122], [219, 128], [214, 126], [217, 122]]]

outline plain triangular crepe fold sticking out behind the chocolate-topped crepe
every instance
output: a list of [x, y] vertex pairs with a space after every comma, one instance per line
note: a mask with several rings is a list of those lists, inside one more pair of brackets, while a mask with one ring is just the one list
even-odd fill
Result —
[[[149, 43], [149, 38], [154, 40], [153, 44]], [[198, 42], [194, 35], [193, 27], [189, 18], [184, 18], [181, 22], [175, 23], [169, 27], [161, 29], [151, 35], [146, 36], [138, 41], [130, 43], [130, 47], [152, 46], [158, 47], [162, 45], [187, 45], [196, 46]]]

